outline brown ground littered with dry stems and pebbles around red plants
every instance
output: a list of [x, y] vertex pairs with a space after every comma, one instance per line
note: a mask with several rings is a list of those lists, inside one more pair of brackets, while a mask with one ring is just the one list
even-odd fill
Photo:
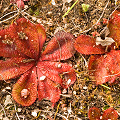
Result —
[[[32, 17], [39, 19], [39, 22], [46, 29], [47, 41], [54, 36], [56, 31], [61, 29], [72, 33], [75, 37], [82, 33], [91, 35], [94, 31], [100, 33], [106, 26], [103, 24], [103, 18], [109, 19], [112, 11], [120, 4], [115, 5], [114, 0], [79, 0], [63, 19], [64, 13], [76, 0], [71, 0], [70, 3], [65, 1], [68, 0], [55, 0], [56, 5], [52, 5], [50, 0], [29, 0], [29, 2], [25, 2], [29, 6], [26, 12], [31, 17], [25, 16], [34, 23], [37, 22]], [[83, 3], [90, 5], [86, 13], [82, 10], [81, 4]], [[9, 0], [1, 2], [1, 17], [14, 10], [15, 7], [10, 5]], [[1, 21], [13, 15], [8, 15]], [[21, 16], [19, 14], [16, 17]], [[7, 27], [14, 19], [3, 22], [0, 27]], [[101, 24], [98, 25], [96, 22]], [[77, 80], [68, 90], [62, 91], [61, 98], [54, 108], [51, 108], [51, 102], [48, 100], [36, 100], [33, 105], [22, 107], [11, 97], [11, 91], [16, 80], [11, 80], [11, 82], [0, 81], [0, 120], [88, 120], [88, 110], [93, 106], [99, 107], [101, 112], [109, 106], [113, 106], [120, 113], [120, 82], [112, 86], [105, 84], [110, 89], [95, 86], [92, 82], [93, 79], [88, 75], [86, 66], [88, 59], [89, 56], [76, 52], [73, 58], [66, 61], [73, 64]], [[37, 117], [32, 115], [34, 111], [37, 113]]]

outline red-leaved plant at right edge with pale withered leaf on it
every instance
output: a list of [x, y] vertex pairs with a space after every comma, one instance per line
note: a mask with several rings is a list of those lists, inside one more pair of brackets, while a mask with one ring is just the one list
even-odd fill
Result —
[[[96, 84], [113, 83], [120, 76], [120, 50], [114, 49], [120, 45], [120, 10], [113, 13], [107, 27], [110, 34], [105, 40], [97, 41], [88, 35], [81, 35], [74, 43], [75, 49], [82, 54], [103, 54], [91, 55], [89, 59], [88, 69]], [[107, 52], [105, 46], [109, 46], [111, 51]]]

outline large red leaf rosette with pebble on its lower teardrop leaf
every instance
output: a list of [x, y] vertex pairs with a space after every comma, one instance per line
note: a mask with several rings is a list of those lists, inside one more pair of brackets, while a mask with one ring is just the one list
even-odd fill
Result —
[[20, 76], [12, 90], [15, 101], [23, 106], [47, 98], [60, 99], [60, 86], [68, 88], [76, 80], [74, 69], [61, 63], [75, 53], [73, 35], [60, 31], [41, 53], [46, 39], [44, 28], [20, 18], [0, 31], [0, 80]]

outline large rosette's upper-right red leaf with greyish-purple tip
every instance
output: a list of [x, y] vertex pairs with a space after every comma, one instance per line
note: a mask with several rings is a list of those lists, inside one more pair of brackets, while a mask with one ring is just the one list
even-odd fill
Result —
[[72, 57], [75, 53], [73, 42], [74, 36], [70, 33], [56, 33], [42, 53], [41, 60], [58, 61]]

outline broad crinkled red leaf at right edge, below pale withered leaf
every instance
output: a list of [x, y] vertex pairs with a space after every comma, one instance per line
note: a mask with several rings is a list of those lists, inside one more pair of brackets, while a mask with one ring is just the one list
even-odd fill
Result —
[[96, 84], [113, 83], [120, 76], [120, 50], [111, 50], [104, 56], [91, 56], [89, 61], [90, 75], [95, 76]]

